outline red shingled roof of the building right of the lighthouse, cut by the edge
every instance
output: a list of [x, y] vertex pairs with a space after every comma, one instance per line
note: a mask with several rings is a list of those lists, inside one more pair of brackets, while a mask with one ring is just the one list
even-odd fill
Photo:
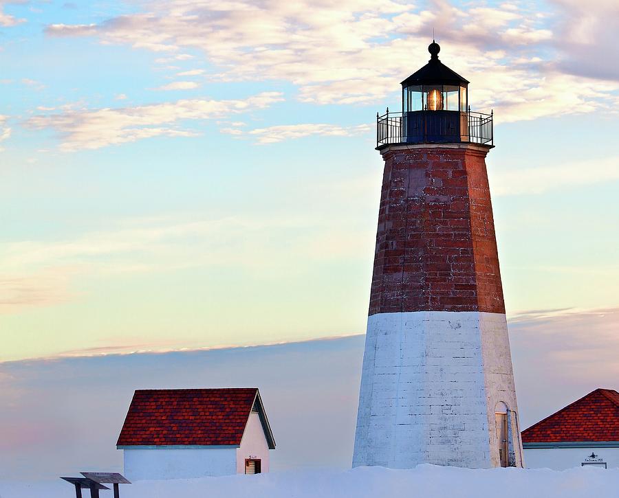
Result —
[[596, 389], [522, 432], [523, 443], [619, 441], [619, 393]]

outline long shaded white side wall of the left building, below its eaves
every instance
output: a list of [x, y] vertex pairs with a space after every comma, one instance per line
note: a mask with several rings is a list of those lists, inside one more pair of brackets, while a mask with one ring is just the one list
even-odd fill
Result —
[[191, 479], [237, 472], [237, 447], [186, 446], [123, 449], [124, 476], [145, 479]]

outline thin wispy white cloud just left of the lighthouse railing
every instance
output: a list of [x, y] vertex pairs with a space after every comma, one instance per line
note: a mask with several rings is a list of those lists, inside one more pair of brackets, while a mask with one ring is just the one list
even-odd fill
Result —
[[[367, 124], [357, 126], [336, 126], [334, 124], [285, 124], [279, 126], [268, 126], [268, 128], [256, 128], [246, 133], [257, 137], [258, 144], [274, 144], [283, 142], [284, 140], [296, 139], [301, 137], [309, 137], [318, 135], [323, 137], [351, 137], [367, 133], [371, 127]], [[231, 133], [239, 135], [237, 128], [224, 128], [222, 133]]]

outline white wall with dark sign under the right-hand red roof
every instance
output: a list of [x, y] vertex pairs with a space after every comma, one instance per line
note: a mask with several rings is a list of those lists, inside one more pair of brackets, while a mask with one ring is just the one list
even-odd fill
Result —
[[[601, 459], [608, 468], [619, 467], [619, 448], [525, 448], [527, 468], [552, 468], [564, 471], [567, 468], [580, 467], [583, 462], [596, 462]], [[591, 459], [591, 453], [596, 458]]]

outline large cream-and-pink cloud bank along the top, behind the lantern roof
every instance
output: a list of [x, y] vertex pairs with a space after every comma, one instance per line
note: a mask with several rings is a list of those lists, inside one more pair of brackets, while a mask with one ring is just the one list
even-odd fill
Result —
[[[395, 94], [395, 82], [426, 62], [425, 47], [435, 27], [445, 42], [444, 62], [473, 82], [474, 106], [493, 108], [503, 120], [514, 121], [605, 111], [617, 104], [619, 84], [601, 86], [595, 79], [600, 71], [592, 70], [593, 78], [575, 78], [566, 70], [572, 59], [564, 43], [572, 32], [585, 43], [582, 22], [598, 14], [612, 17], [613, 3], [578, 7], [576, 0], [557, 0], [554, 11], [538, 16], [522, 3], [456, 7], [433, 0], [420, 8], [369, 0], [152, 0], [142, 12], [97, 25], [52, 25], [47, 32], [96, 34], [105, 43], [171, 52], [170, 58], [185, 49], [200, 51], [220, 69], [212, 80], [284, 80], [298, 87], [303, 102], [369, 104]], [[581, 16], [581, 22], [578, 9], [594, 14]], [[561, 23], [565, 12], [569, 20]], [[613, 40], [608, 26], [594, 25]], [[574, 45], [577, 52], [580, 45]], [[609, 60], [606, 54], [603, 65], [599, 58], [590, 63], [602, 68], [612, 66]]]

